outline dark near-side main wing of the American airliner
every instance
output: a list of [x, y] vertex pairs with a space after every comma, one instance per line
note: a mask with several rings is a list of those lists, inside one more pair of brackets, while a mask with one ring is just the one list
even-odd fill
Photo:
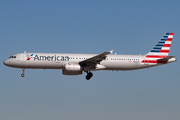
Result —
[[79, 64], [83, 65], [83, 64], [99, 64], [102, 60], [105, 60], [106, 59], [106, 55], [108, 55], [109, 53], [112, 53], [113, 50], [109, 51], [109, 52], [104, 52], [104, 53], [101, 53], [99, 55], [96, 55], [94, 57], [91, 57], [89, 59], [86, 59], [86, 60], [83, 60], [83, 61], [80, 61]]

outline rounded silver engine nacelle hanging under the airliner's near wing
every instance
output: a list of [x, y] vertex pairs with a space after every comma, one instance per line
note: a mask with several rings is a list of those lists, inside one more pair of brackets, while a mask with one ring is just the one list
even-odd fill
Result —
[[82, 74], [82, 68], [79, 64], [67, 63], [62, 70], [63, 75], [79, 75]]

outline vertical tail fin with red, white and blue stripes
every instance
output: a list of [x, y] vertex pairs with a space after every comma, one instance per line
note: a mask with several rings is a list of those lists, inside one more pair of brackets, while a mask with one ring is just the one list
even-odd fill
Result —
[[161, 59], [168, 57], [174, 33], [166, 33], [153, 49], [146, 54], [146, 58]]

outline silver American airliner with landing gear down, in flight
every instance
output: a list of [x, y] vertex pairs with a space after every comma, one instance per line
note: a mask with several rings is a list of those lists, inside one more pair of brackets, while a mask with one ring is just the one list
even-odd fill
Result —
[[[112, 54], [113, 50], [101, 54], [70, 53], [18, 53], [3, 63], [13, 68], [25, 69], [62, 69], [63, 75], [87, 73], [89, 80], [98, 70], [137, 70], [175, 62], [175, 56], [168, 56], [174, 33], [166, 33], [153, 49], [145, 55]], [[111, 53], [111, 54], [110, 54]]]

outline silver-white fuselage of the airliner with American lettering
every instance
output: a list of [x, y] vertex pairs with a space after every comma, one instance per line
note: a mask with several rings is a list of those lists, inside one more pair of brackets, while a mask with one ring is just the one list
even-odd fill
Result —
[[[79, 63], [97, 54], [64, 54], [64, 53], [33, 53], [27, 60], [27, 55], [32, 53], [19, 53], [4, 61], [4, 64], [15, 68], [28, 69], [64, 69], [67, 63]], [[142, 63], [145, 55], [107, 55], [106, 59], [92, 70], [135, 70], [153, 67], [161, 64]], [[103, 67], [102, 67], [103, 66]]]

